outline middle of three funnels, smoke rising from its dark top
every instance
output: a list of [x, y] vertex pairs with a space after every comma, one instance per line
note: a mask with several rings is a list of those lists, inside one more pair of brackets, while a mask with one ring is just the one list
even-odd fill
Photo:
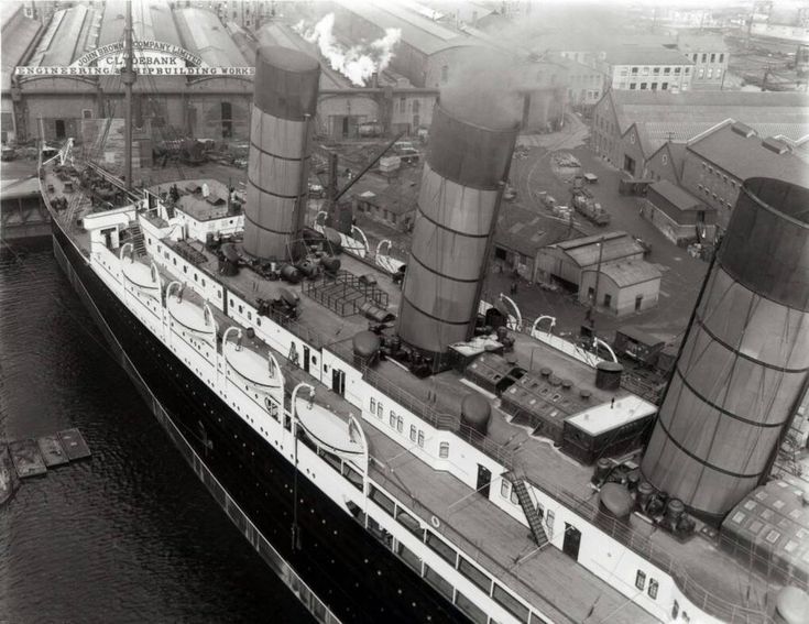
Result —
[[[469, 340], [509, 175], [517, 127], [502, 110], [467, 111], [475, 123], [436, 103], [430, 152], [422, 174], [418, 219], [402, 292], [398, 335], [438, 355]], [[466, 117], [469, 117], [467, 114]]]

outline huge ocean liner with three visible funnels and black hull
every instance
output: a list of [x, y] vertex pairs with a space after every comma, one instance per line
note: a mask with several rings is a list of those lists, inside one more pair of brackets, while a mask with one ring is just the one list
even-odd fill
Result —
[[260, 48], [243, 208], [212, 179], [132, 191], [69, 141], [40, 169], [99, 331], [314, 617], [806, 622], [807, 496], [770, 471], [809, 370], [809, 191], [745, 183], [652, 401], [480, 302], [495, 116], [436, 105], [406, 264], [306, 227], [318, 74]]

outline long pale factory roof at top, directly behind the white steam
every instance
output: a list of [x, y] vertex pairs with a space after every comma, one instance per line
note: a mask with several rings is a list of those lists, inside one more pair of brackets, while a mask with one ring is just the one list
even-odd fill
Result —
[[380, 29], [400, 29], [402, 41], [426, 55], [460, 45], [483, 45], [474, 37], [450, 30], [393, 3], [338, 0], [338, 4]]

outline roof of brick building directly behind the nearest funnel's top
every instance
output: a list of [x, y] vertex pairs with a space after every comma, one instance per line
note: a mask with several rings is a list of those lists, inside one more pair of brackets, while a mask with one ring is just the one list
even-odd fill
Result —
[[777, 154], [762, 144], [761, 136], [745, 138], [723, 125], [691, 143], [688, 151], [718, 165], [739, 179], [766, 176], [795, 184], [809, 178], [806, 164], [791, 153]]

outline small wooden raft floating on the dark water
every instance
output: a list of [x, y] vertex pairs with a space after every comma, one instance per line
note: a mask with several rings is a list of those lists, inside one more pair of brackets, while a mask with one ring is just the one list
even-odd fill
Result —
[[91, 457], [78, 429], [65, 429], [41, 438], [0, 441], [0, 503], [11, 497], [21, 479], [47, 473], [48, 469]]

